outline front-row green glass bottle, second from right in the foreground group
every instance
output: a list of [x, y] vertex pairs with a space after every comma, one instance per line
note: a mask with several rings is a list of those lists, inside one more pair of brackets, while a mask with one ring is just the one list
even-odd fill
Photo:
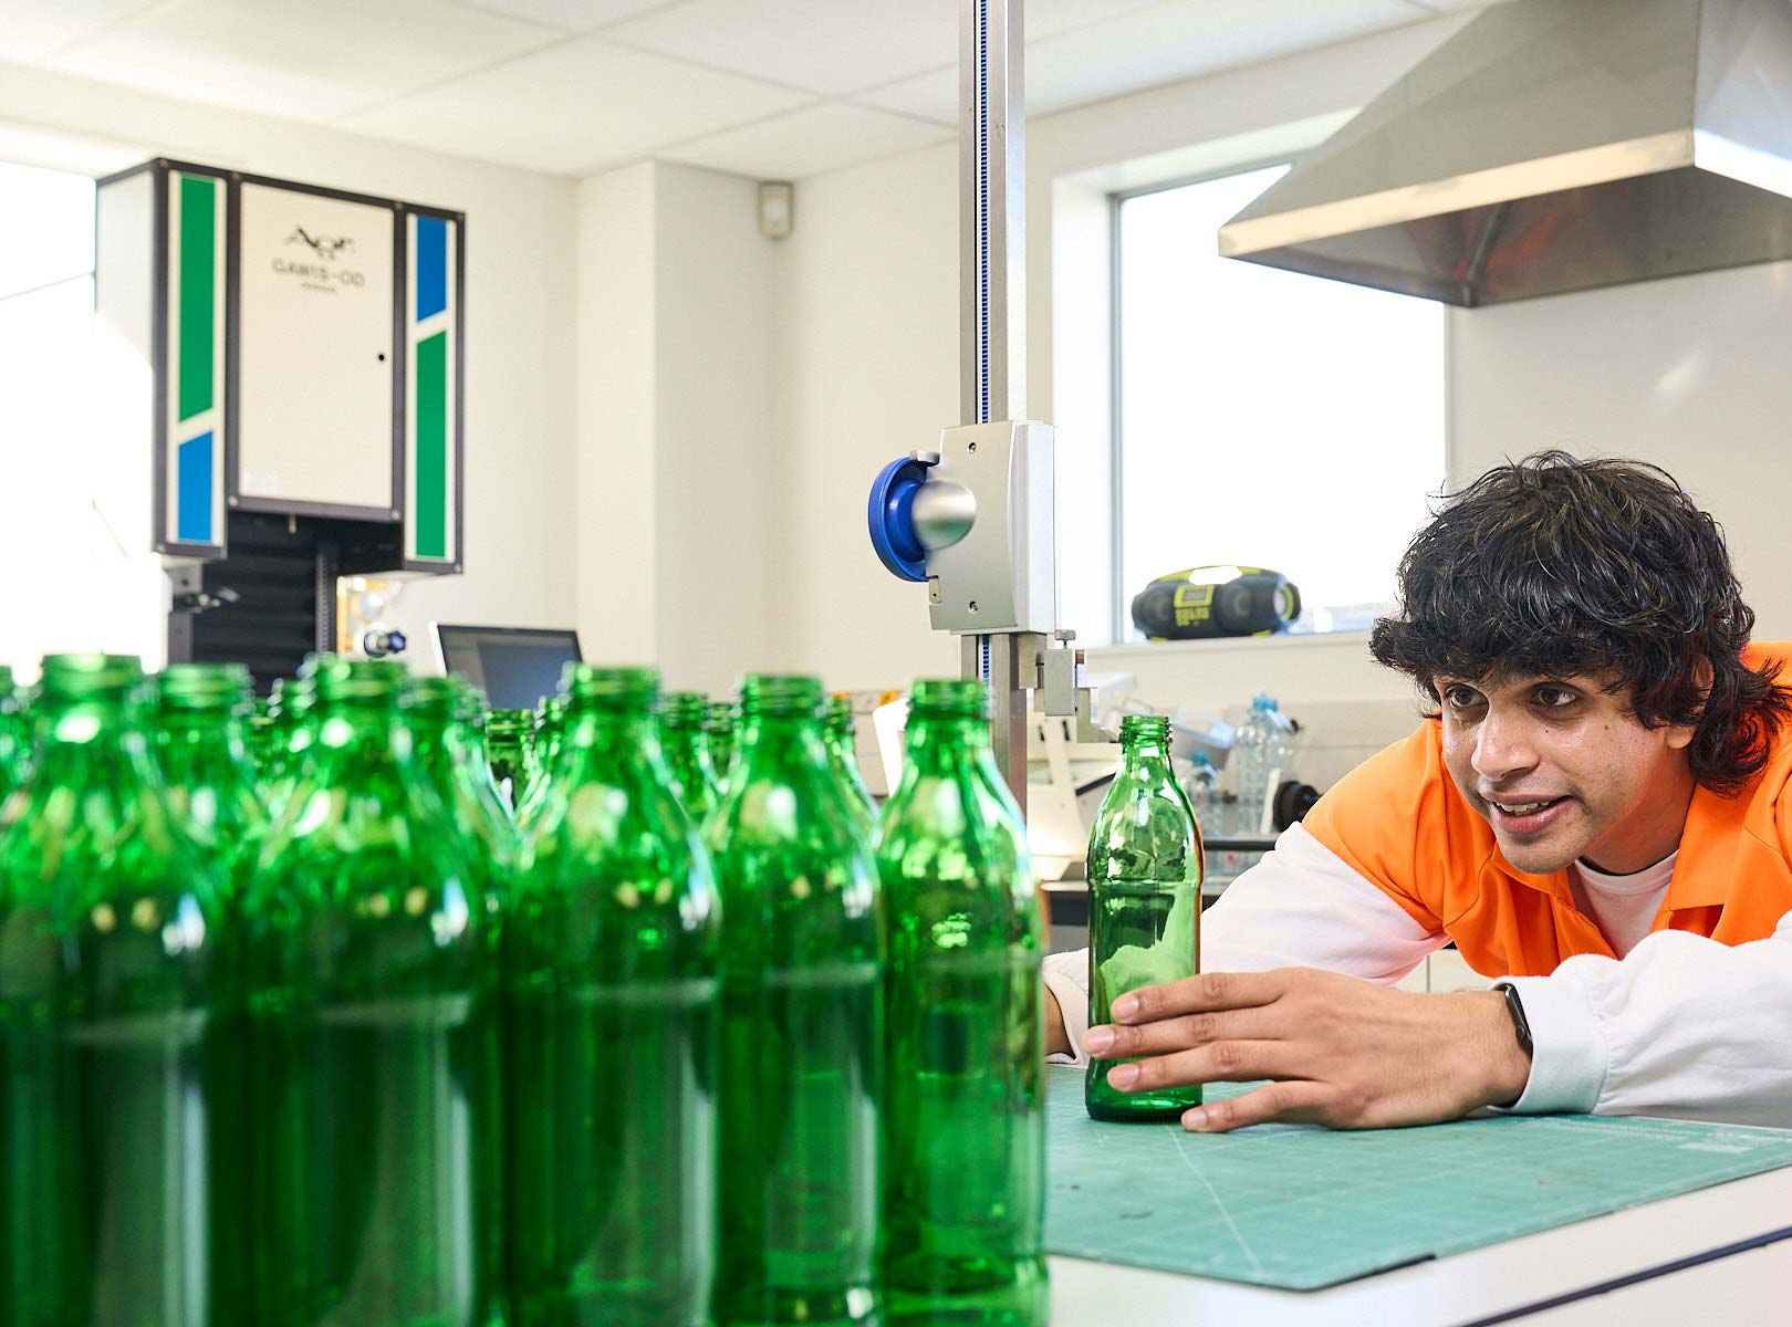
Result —
[[878, 1323], [883, 913], [821, 684], [754, 675], [706, 826], [722, 892], [717, 1318]]

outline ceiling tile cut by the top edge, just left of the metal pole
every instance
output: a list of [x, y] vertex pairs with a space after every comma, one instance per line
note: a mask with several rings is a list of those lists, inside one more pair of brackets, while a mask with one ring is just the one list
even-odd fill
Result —
[[955, 61], [959, 0], [686, 0], [604, 36], [842, 93]]

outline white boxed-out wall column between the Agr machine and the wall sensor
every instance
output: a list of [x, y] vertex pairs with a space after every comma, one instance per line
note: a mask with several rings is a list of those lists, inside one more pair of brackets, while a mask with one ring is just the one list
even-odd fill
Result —
[[579, 634], [726, 693], [788, 650], [774, 274], [756, 186], [668, 163], [579, 192]]

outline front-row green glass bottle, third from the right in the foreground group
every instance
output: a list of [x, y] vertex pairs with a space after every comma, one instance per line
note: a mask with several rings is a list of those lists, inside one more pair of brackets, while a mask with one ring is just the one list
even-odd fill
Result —
[[711, 1322], [720, 910], [656, 688], [647, 668], [568, 670], [511, 899], [511, 1327]]

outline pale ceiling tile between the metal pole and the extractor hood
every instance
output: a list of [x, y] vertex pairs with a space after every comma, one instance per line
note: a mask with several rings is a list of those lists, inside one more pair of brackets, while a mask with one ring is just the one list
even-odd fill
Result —
[[1177, 0], [1027, 48], [1027, 109], [1050, 115], [1177, 79], [1400, 27], [1403, 0]]

